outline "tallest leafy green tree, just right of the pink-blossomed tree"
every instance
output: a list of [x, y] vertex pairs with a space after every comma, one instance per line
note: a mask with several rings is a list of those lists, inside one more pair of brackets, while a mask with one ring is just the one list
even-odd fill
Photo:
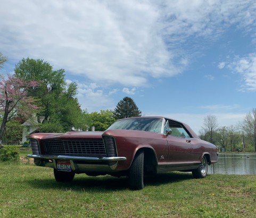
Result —
[[15, 65], [15, 75], [24, 81], [38, 81], [38, 87], [28, 89], [29, 96], [39, 99], [37, 112], [38, 123], [49, 122], [54, 114], [56, 99], [65, 88], [64, 70], [53, 70], [48, 62], [43, 60], [22, 59]]

